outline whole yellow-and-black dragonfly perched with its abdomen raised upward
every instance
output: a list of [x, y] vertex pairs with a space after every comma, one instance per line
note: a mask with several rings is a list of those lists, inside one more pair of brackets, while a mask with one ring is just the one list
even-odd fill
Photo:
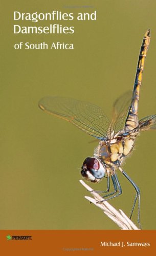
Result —
[[[94, 154], [87, 157], [81, 167], [81, 175], [88, 181], [98, 183], [107, 178], [106, 190], [94, 190], [103, 193], [103, 200], [110, 200], [122, 194], [117, 176], [117, 169], [125, 176], [136, 191], [130, 212], [130, 219], [138, 202], [138, 223], [140, 225], [140, 189], [127, 175], [122, 164], [130, 155], [136, 137], [142, 131], [156, 129], [156, 115], [149, 115], [139, 120], [138, 106], [144, 62], [150, 42], [150, 30], [147, 30], [138, 59], [133, 91], [124, 93], [114, 103], [111, 121], [103, 110], [89, 102], [64, 97], [44, 97], [39, 101], [39, 108], [44, 112], [62, 118], [80, 130], [99, 140]], [[110, 192], [110, 181], [113, 191]], [[138, 200], [138, 201], [137, 201]]]

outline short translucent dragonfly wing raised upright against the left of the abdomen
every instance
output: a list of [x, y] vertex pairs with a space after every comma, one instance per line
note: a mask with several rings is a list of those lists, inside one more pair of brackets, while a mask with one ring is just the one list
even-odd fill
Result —
[[125, 120], [127, 118], [129, 106], [132, 101], [132, 92], [128, 91], [122, 94], [113, 105], [113, 118], [108, 128], [108, 137], [114, 136], [123, 129]]

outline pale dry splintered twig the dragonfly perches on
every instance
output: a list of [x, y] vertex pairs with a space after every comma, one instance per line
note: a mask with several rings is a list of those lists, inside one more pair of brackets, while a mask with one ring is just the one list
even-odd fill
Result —
[[128, 230], [139, 230], [139, 228], [124, 214], [122, 210], [116, 210], [112, 205], [110, 205], [107, 201], [103, 201], [102, 203], [97, 203], [98, 201], [102, 201], [103, 198], [93, 189], [88, 186], [84, 181], [80, 180], [80, 183], [94, 196], [85, 198], [103, 210], [104, 214], [107, 215], [110, 219], [112, 219], [120, 229], [128, 229]]

